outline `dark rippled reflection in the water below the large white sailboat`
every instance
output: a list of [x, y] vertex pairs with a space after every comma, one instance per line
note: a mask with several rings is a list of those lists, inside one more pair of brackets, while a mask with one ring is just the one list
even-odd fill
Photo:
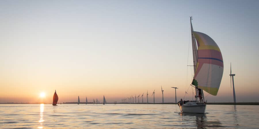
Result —
[[208, 121], [206, 114], [196, 114], [196, 113], [180, 113], [181, 118], [185, 117], [195, 119], [197, 128], [223, 128], [222, 123], [219, 120]]

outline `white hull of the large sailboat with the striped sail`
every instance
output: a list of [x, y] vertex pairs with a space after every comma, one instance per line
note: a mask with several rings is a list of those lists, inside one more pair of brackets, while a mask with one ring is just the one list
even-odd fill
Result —
[[181, 112], [185, 113], [205, 113], [206, 110], [206, 104], [197, 104], [193, 102], [185, 103], [179, 107]]

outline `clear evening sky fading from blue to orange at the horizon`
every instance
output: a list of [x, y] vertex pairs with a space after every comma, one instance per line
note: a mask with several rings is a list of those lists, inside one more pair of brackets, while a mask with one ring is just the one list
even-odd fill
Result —
[[[218, 44], [217, 96], [259, 99], [259, 1], [0, 1], [0, 102], [120, 101], [155, 89], [155, 102], [183, 98], [192, 81], [193, 28]], [[188, 97], [192, 99], [192, 88]], [[46, 93], [44, 99], [39, 98]], [[144, 96], [146, 101], [146, 95]]]

